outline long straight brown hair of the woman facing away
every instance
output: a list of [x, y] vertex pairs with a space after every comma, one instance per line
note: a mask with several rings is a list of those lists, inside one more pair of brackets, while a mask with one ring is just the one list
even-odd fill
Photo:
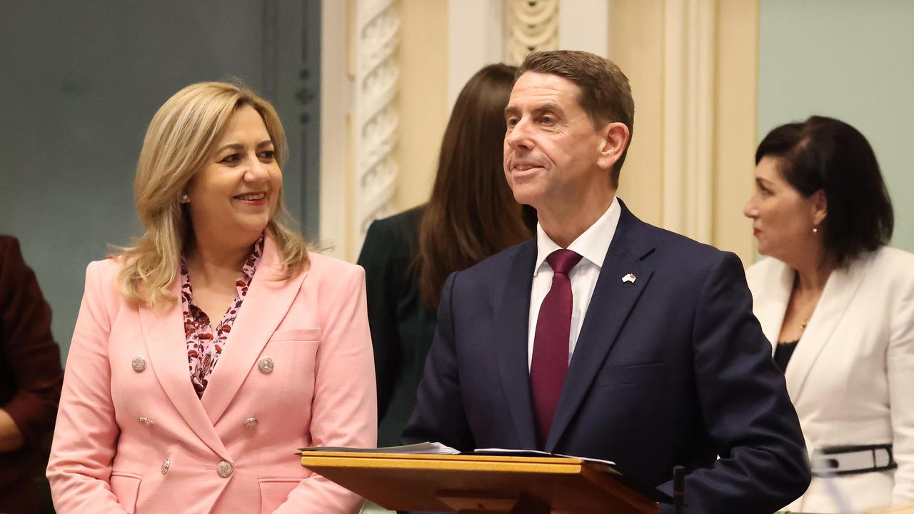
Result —
[[444, 131], [416, 256], [420, 294], [431, 308], [449, 274], [531, 236], [502, 164], [514, 74], [505, 64], [479, 70], [463, 86]]

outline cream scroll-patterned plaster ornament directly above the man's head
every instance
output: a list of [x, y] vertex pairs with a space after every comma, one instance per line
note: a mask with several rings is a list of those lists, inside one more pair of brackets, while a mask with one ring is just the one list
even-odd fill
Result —
[[558, 48], [558, 0], [510, 0], [508, 61], [520, 64], [526, 54]]

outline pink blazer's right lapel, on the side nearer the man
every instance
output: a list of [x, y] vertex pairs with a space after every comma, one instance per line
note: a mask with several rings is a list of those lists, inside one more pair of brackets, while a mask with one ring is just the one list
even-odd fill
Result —
[[250, 281], [248, 294], [200, 401], [214, 425], [250, 370], [256, 366], [257, 357], [289, 311], [307, 274], [301, 273], [283, 281], [272, 280], [281, 272], [282, 262], [276, 243], [267, 237], [263, 241], [263, 256]]

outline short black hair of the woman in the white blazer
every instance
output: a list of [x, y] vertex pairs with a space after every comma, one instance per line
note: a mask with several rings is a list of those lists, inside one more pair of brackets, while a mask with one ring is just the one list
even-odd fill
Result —
[[856, 128], [824, 116], [787, 123], [765, 136], [755, 163], [766, 155], [780, 158], [781, 174], [803, 197], [824, 190], [828, 214], [819, 231], [834, 265], [892, 239], [892, 200], [876, 154]]

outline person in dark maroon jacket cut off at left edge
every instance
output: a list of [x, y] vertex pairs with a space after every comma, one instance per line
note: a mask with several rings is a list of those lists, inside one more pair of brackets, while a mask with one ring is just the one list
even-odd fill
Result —
[[40, 509], [36, 481], [47, 465], [62, 382], [51, 309], [19, 241], [0, 236], [0, 512]]

